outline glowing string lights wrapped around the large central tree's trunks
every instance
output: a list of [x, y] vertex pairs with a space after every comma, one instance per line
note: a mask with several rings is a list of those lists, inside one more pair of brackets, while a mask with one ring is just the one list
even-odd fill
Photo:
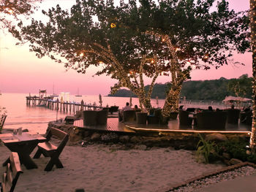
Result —
[[[112, 24], [112, 23], [111, 23]], [[114, 23], [113, 23], [114, 24]], [[111, 26], [112, 27], [112, 26]], [[113, 25], [115, 27], [115, 25]], [[162, 109], [162, 115], [168, 117], [170, 112], [177, 112], [178, 110], [178, 97], [181, 92], [181, 85], [184, 80], [187, 78], [187, 70], [181, 70], [181, 65], [178, 63], [178, 56], [176, 54], [176, 49], [173, 47], [170, 38], [167, 35], [160, 35], [153, 31], [148, 32], [159, 39], [165, 39], [165, 43], [170, 50], [170, 55], [172, 59], [170, 60], [171, 64], [171, 76], [172, 76], [172, 87], [170, 88], [169, 93], [167, 93], [165, 105]], [[143, 55], [140, 61], [139, 72], [136, 75], [135, 72], [127, 71], [124, 69], [124, 65], [120, 64], [116, 56], [112, 53], [110, 45], [103, 47], [97, 43], [93, 44], [97, 48], [90, 47], [90, 50], [83, 50], [83, 53], [80, 53], [80, 57], [83, 57], [85, 53], [92, 53], [101, 57], [106, 64], [112, 64], [113, 66], [113, 76], [119, 80], [113, 87], [111, 87], [111, 93], [116, 93], [119, 88], [127, 87], [130, 91], [135, 93], [138, 96], [140, 107], [143, 111], [148, 111], [151, 109], [151, 93], [153, 91], [154, 83], [157, 80], [157, 77], [161, 73], [157, 66], [157, 56], [154, 55], [154, 58], [146, 58], [146, 55]], [[181, 50], [178, 48], [178, 50]], [[154, 64], [154, 75], [152, 76], [151, 85], [149, 86], [148, 92], [145, 91], [145, 86], [143, 82], [144, 69], [143, 66], [146, 63]], [[137, 80], [139, 77], [139, 82]], [[144, 108], [145, 107], [145, 108]]]

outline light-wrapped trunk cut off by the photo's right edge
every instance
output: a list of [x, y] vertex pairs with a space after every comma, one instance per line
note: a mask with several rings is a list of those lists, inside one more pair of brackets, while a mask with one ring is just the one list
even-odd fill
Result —
[[252, 134], [250, 138], [250, 147], [255, 153], [256, 148], [256, 1], [250, 0], [250, 26], [251, 26], [251, 43], [252, 43]]

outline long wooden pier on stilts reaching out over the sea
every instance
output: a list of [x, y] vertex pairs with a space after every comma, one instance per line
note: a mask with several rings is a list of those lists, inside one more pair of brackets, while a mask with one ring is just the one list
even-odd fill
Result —
[[53, 100], [52, 97], [44, 97], [40, 98], [39, 96], [26, 96], [26, 104], [37, 106], [37, 107], [45, 107], [50, 110], [59, 110], [60, 112], [67, 112], [67, 113], [76, 113], [80, 110], [97, 110], [102, 109], [103, 107], [97, 106], [95, 104], [86, 104], [83, 100], [79, 102], [67, 102], [67, 101], [59, 101]]

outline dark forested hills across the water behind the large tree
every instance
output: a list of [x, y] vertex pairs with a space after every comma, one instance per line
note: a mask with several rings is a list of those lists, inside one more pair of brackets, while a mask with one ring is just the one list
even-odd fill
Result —
[[[165, 84], [157, 83], [154, 85], [151, 98], [165, 99], [166, 92], [170, 89], [170, 82]], [[149, 85], [146, 85], [145, 90], [148, 91]], [[181, 97], [186, 96], [186, 99], [195, 100], [215, 100], [222, 101], [225, 96], [243, 96], [252, 99], [252, 77], [247, 74], [241, 75], [238, 79], [227, 80], [225, 77], [219, 80], [189, 80], [182, 84]], [[137, 97], [132, 91], [120, 89], [116, 94], [108, 94], [108, 96], [119, 97]]]

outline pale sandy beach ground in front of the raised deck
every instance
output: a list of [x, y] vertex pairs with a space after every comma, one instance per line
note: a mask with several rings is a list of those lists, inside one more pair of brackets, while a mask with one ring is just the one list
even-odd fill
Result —
[[[167, 191], [170, 185], [222, 168], [223, 164], [198, 164], [188, 150], [152, 148], [116, 150], [116, 145], [66, 146], [61, 153], [63, 169], [45, 172], [49, 158], [34, 159], [38, 169], [23, 165], [15, 191]], [[36, 150], [31, 154], [34, 155]], [[0, 161], [10, 150], [0, 147]], [[1, 172], [4, 172], [1, 166]]]

